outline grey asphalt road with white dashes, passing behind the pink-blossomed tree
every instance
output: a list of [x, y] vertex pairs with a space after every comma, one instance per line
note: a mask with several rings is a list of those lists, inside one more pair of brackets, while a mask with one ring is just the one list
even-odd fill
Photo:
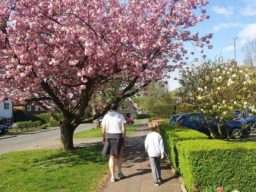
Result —
[[[91, 129], [93, 126], [93, 123], [80, 124], [74, 133]], [[33, 134], [24, 133], [17, 137], [2, 139], [0, 140], [0, 154], [20, 151], [58, 138], [60, 138], [60, 129]]]

